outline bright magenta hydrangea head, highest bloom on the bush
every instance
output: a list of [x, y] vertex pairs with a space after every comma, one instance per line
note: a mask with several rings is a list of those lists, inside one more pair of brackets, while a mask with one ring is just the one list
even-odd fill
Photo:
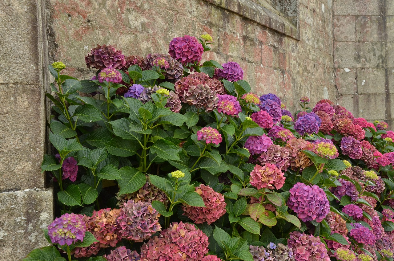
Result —
[[185, 35], [172, 39], [169, 45], [169, 55], [183, 65], [186, 63], [200, 62], [204, 52], [203, 45], [197, 38]]

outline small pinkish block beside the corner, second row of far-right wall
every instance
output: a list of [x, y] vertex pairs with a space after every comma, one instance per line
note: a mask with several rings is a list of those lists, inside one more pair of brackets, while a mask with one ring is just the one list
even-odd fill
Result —
[[336, 15], [334, 20], [335, 41], [356, 40], [356, 17], [353, 15]]

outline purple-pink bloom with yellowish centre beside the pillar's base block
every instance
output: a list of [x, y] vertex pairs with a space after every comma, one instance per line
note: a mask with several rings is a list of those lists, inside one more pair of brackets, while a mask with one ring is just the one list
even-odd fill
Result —
[[53, 244], [67, 246], [83, 241], [86, 232], [84, 216], [65, 213], [48, 226], [48, 235]]

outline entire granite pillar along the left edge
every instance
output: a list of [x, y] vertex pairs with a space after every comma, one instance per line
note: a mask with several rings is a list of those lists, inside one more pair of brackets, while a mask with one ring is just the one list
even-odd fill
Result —
[[3, 0], [0, 8], [0, 260], [19, 260], [48, 245], [52, 190], [45, 188], [44, 0]]

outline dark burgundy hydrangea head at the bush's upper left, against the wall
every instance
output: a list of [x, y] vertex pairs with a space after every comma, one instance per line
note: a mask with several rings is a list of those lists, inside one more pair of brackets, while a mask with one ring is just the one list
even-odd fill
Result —
[[104, 69], [113, 67], [114, 69], [122, 69], [126, 64], [125, 56], [121, 50], [116, 50], [112, 45], [97, 45], [92, 48], [85, 56], [87, 68]]

